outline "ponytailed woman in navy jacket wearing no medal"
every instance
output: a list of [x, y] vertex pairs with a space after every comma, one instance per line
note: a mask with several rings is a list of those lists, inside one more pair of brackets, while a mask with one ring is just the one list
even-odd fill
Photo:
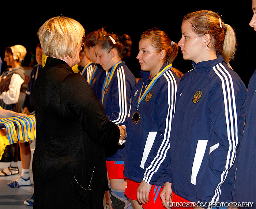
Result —
[[227, 65], [236, 50], [236, 35], [221, 16], [207, 10], [192, 12], [183, 18], [181, 30], [178, 45], [193, 69], [182, 76], [177, 90], [170, 175], [165, 176], [161, 198], [165, 206], [192, 202], [211, 208], [210, 202], [232, 202], [233, 163], [247, 92]]

